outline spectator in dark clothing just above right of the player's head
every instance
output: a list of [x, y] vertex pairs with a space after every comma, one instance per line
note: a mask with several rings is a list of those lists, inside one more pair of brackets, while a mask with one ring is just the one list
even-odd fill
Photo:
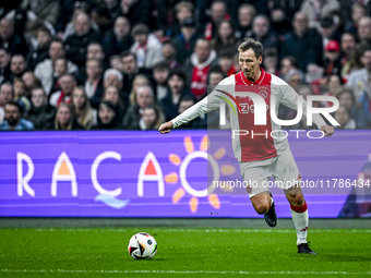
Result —
[[253, 20], [251, 37], [261, 41], [265, 48], [275, 47], [278, 49], [278, 37], [271, 29], [270, 19], [264, 14], [259, 14]]

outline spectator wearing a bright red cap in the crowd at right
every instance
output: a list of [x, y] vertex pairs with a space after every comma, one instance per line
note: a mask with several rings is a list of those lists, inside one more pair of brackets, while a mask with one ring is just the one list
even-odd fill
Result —
[[324, 74], [330, 75], [332, 73], [340, 74], [342, 72], [342, 57], [340, 57], [340, 45], [335, 39], [331, 39], [327, 43], [324, 52]]

